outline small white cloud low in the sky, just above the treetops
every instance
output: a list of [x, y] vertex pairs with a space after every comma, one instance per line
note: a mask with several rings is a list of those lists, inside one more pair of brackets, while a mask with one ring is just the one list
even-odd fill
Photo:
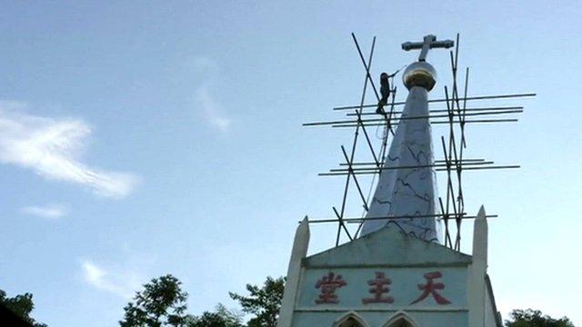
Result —
[[140, 287], [143, 276], [129, 270], [111, 271], [90, 260], [81, 262], [83, 278], [89, 285], [125, 299], [133, 296]]

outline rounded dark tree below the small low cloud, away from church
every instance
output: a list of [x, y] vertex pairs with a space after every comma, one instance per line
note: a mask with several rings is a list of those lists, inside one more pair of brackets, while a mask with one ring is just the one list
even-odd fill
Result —
[[154, 278], [135, 292], [134, 302], [125, 306], [121, 327], [186, 326], [186, 299], [182, 282], [171, 274]]

